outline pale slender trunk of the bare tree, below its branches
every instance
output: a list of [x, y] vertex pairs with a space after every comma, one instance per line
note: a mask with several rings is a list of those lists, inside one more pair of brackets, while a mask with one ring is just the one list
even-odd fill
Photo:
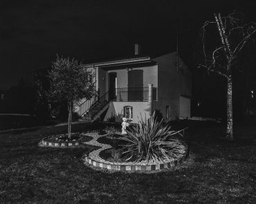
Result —
[[233, 116], [232, 116], [232, 77], [227, 78], [227, 132], [226, 139], [233, 140]]

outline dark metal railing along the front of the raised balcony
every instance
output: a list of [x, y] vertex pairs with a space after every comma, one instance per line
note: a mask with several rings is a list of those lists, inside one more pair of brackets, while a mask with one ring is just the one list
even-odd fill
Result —
[[[149, 101], [149, 88], [116, 88], [113, 101]], [[152, 90], [152, 100], [157, 101], [157, 88]]]

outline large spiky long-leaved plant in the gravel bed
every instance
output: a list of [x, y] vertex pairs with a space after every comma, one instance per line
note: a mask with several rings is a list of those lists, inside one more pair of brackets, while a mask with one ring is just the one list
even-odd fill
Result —
[[170, 125], [164, 124], [163, 119], [157, 121], [155, 113], [149, 119], [141, 119], [136, 126], [127, 130], [127, 135], [121, 139], [127, 143], [122, 147], [122, 156], [126, 161], [149, 161], [165, 163], [177, 159], [185, 152], [183, 143], [174, 138], [182, 136], [181, 131], [170, 130]]

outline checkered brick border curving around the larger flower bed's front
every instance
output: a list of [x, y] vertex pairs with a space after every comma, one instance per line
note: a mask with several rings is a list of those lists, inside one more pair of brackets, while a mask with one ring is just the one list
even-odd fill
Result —
[[154, 164], [154, 165], [116, 165], [116, 164], [111, 164], [109, 163], [104, 163], [100, 161], [95, 161], [90, 158], [88, 155], [83, 156], [84, 163], [88, 163], [91, 166], [97, 167], [99, 169], [104, 169], [104, 170], [111, 170], [111, 171], [126, 171], [126, 172], [141, 172], [141, 171], [160, 171], [160, 170], [169, 170], [171, 167], [175, 167], [177, 165], [182, 164], [185, 159], [188, 158], [189, 156], [189, 149], [188, 145], [184, 144], [185, 146], [185, 154], [178, 160], [174, 160], [172, 162], [168, 163], [159, 163], [159, 164]]

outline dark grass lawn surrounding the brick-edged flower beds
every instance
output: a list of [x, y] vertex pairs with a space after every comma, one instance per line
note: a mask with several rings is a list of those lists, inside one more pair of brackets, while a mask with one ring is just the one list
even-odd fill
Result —
[[[92, 147], [59, 149], [37, 143], [66, 127], [0, 134], [0, 203], [256, 203], [256, 126], [188, 126], [190, 159], [169, 172], [102, 172], [84, 165]], [[74, 125], [82, 131], [86, 125]]]

